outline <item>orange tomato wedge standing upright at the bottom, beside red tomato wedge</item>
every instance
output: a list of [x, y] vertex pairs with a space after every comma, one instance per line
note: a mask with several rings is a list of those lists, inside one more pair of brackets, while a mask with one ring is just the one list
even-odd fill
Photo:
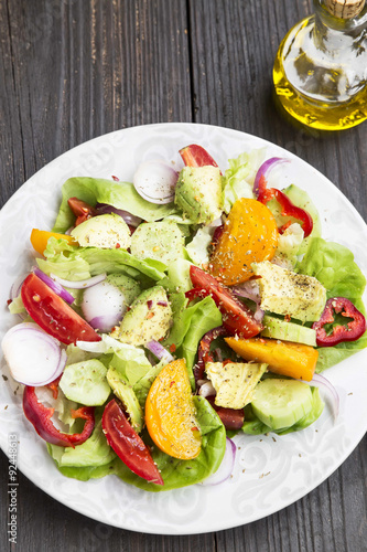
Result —
[[166, 364], [153, 381], [145, 402], [145, 424], [163, 453], [182, 460], [198, 456], [202, 438], [183, 359]]

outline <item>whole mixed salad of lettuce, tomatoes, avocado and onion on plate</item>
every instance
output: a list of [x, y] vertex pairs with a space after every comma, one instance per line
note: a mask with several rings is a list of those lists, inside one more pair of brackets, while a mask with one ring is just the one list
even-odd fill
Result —
[[[28, 421], [62, 474], [150, 491], [229, 476], [237, 432], [301, 431], [321, 375], [367, 344], [365, 277], [321, 236], [288, 159], [252, 150], [222, 172], [198, 145], [133, 182], [71, 178], [2, 340]], [[225, 460], [224, 460], [225, 458]]]

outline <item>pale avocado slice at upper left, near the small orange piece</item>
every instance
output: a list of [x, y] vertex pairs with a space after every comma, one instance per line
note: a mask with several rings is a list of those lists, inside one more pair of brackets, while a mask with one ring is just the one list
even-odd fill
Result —
[[100, 214], [78, 224], [71, 232], [82, 247], [114, 250], [130, 247], [130, 229], [118, 214]]

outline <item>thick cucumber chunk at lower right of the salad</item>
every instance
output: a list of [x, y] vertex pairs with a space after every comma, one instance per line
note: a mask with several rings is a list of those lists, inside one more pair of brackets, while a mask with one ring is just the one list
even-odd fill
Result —
[[251, 406], [263, 424], [271, 429], [282, 429], [311, 412], [312, 392], [306, 383], [269, 378], [257, 385]]

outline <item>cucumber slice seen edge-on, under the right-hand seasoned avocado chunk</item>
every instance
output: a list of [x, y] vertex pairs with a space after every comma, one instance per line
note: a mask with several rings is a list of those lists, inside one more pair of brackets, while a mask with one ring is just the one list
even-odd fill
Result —
[[261, 336], [265, 338], [281, 339], [282, 341], [293, 341], [293, 343], [304, 343], [316, 347], [316, 331], [300, 323], [287, 322], [280, 318], [266, 315], [262, 323], [265, 329]]

